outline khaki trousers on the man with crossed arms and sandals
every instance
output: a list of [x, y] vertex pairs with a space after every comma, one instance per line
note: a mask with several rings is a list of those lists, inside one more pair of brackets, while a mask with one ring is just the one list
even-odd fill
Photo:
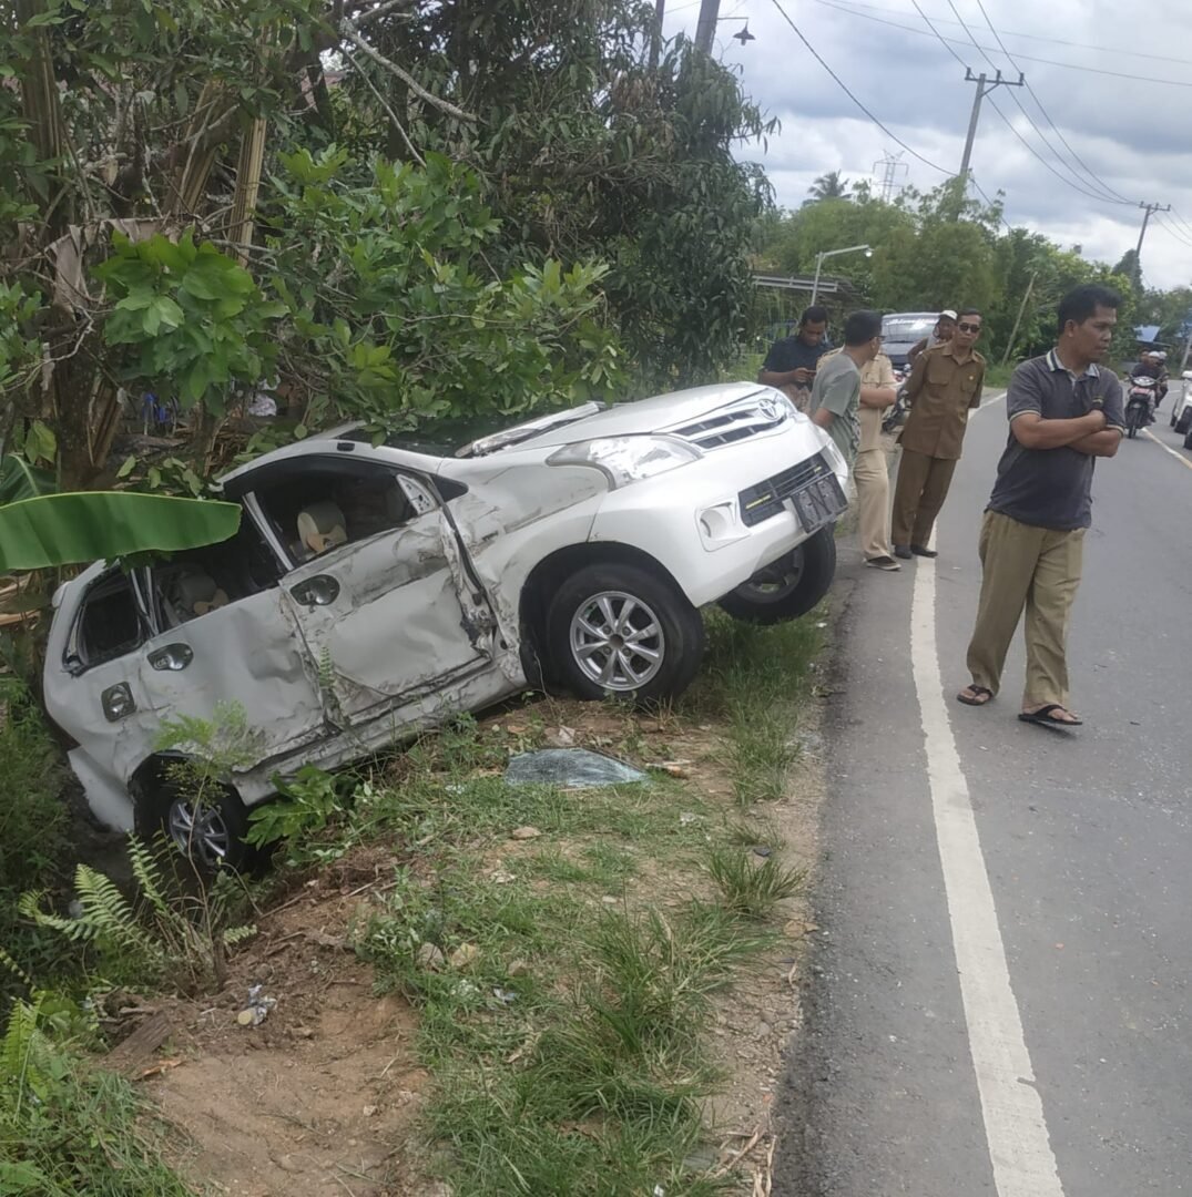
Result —
[[1027, 608], [1023, 707], [1067, 706], [1067, 627], [1081, 583], [1084, 529], [1052, 531], [986, 511], [979, 541], [981, 600], [968, 646], [975, 686], [996, 694], [1006, 651]]

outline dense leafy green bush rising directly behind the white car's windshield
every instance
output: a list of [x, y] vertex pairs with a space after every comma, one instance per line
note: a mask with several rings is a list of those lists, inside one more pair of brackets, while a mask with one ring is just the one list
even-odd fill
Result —
[[303, 148], [282, 157], [268, 212], [285, 369], [316, 421], [520, 415], [622, 385], [605, 267], [547, 260], [494, 278], [497, 224], [477, 177], [441, 154], [362, 169], [344, 148]]

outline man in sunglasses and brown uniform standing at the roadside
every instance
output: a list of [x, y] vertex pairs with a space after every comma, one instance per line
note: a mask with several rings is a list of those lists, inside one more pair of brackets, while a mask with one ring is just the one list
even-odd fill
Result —
[[966, 308], [952, 339], [915, 358], [890, 528], [894, 555], [903, 560], [936, 555], [927, 543], [961, 457], [968, 413], [981, 406], [985, 358], [974, 348], [980, 335], [981, 314]]

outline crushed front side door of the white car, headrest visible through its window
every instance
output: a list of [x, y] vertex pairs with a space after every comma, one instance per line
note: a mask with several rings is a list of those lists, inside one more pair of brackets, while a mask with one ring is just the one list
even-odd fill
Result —
[[333, 722], [365, 722], [490, 666], [495, 621], [429, 482], [340, 458], [307, 462], [297, 486], [253, 500], [302, 563], [283, 587]]

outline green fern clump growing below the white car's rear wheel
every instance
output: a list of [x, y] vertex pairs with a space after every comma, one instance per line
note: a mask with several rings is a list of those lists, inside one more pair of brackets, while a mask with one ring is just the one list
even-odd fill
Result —
[[176, 850], [159, 855], [135, 837], [128, 839], [128, 858], [137, 882], [138, 904], [126, 898], [110, 877], [79, 864], [74, 871], [78, 915], [46, 911], [40, 893], [22, 897], [20, 913], [41, 928], [56, 931], [71, 943], [87, 944], [97, 953], [101, 973], [109, 980], [139, 989], [167, 986], [182, 992], [219, 988], [226, 976], [226, 949], [252, 934], [231, 926], [228, 913], [235, 889], [217, 879], [207, 891], [188, 894], [163, 867], [176, 863]]

